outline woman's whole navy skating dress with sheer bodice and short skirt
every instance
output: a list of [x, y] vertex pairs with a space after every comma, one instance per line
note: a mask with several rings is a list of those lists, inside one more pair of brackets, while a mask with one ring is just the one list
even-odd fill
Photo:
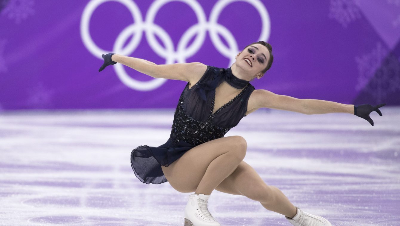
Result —
[[[221, 82], [242, 91], [214, 114], [215, 88]], [[200, 80], [180, 95], [170, 138], [158, 147], [138, 146], [131, 153], [131, 165], [137, 178], [146, 184], [167, 181], [161, 166], [168, 167], [191, 148], [224, 137], [246, 116], [247, 102], [254, 86], [232, 74], [231, 68], [207, 66]]]

